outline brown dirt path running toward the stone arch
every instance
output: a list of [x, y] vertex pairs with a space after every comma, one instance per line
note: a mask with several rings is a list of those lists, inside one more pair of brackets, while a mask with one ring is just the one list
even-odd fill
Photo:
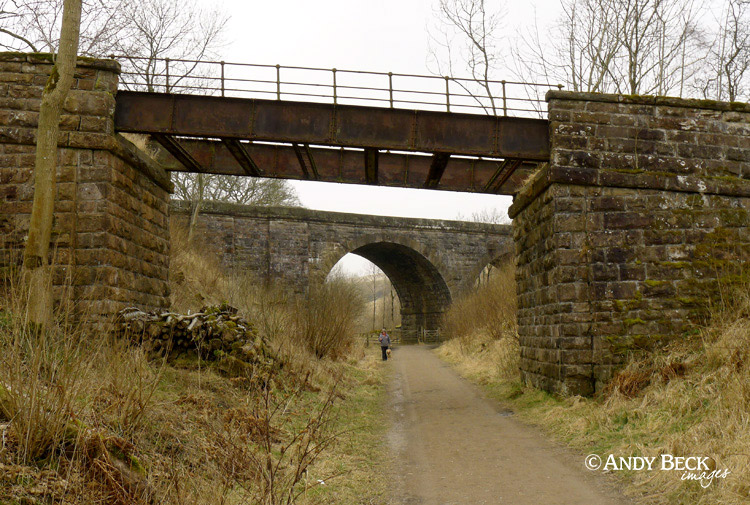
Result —
[[425, 347], [394, 350], [392, 505], [627, 503]]

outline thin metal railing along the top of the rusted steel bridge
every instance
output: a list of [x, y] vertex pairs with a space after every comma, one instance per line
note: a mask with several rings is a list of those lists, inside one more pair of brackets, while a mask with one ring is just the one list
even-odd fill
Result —
[[315, 67], [116, 56], [126, 89], [496, 116], [538, 116], [560, 84]]

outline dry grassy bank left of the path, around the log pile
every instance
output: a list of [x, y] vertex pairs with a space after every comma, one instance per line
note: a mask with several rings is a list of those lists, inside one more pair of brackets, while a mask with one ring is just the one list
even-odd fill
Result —
[[199, 244], [174, 244], [173, 310], [229, 302], [273, 363], [237, 372], [199, 354], [154, 359], [65, 312], [29, 328], [6, 279], [0, 503], [376, 503], [384, 379], [352, 338], [356, 292], [334, 280], [294, 297], [224, 272]]

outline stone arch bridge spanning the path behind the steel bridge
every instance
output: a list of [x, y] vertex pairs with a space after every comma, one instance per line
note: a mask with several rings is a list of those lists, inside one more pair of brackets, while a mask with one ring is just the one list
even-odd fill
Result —
[[[189, 206], [173, 202], [184, 224]], [[221, 264], [296, 292], [322, 282], [347, 253], [377, 265], [401, 301], [405, 336], [439, 327], [457, 295], [489, 264], [510, 259], [510, 225], [208, 203], [198, 232]]]

